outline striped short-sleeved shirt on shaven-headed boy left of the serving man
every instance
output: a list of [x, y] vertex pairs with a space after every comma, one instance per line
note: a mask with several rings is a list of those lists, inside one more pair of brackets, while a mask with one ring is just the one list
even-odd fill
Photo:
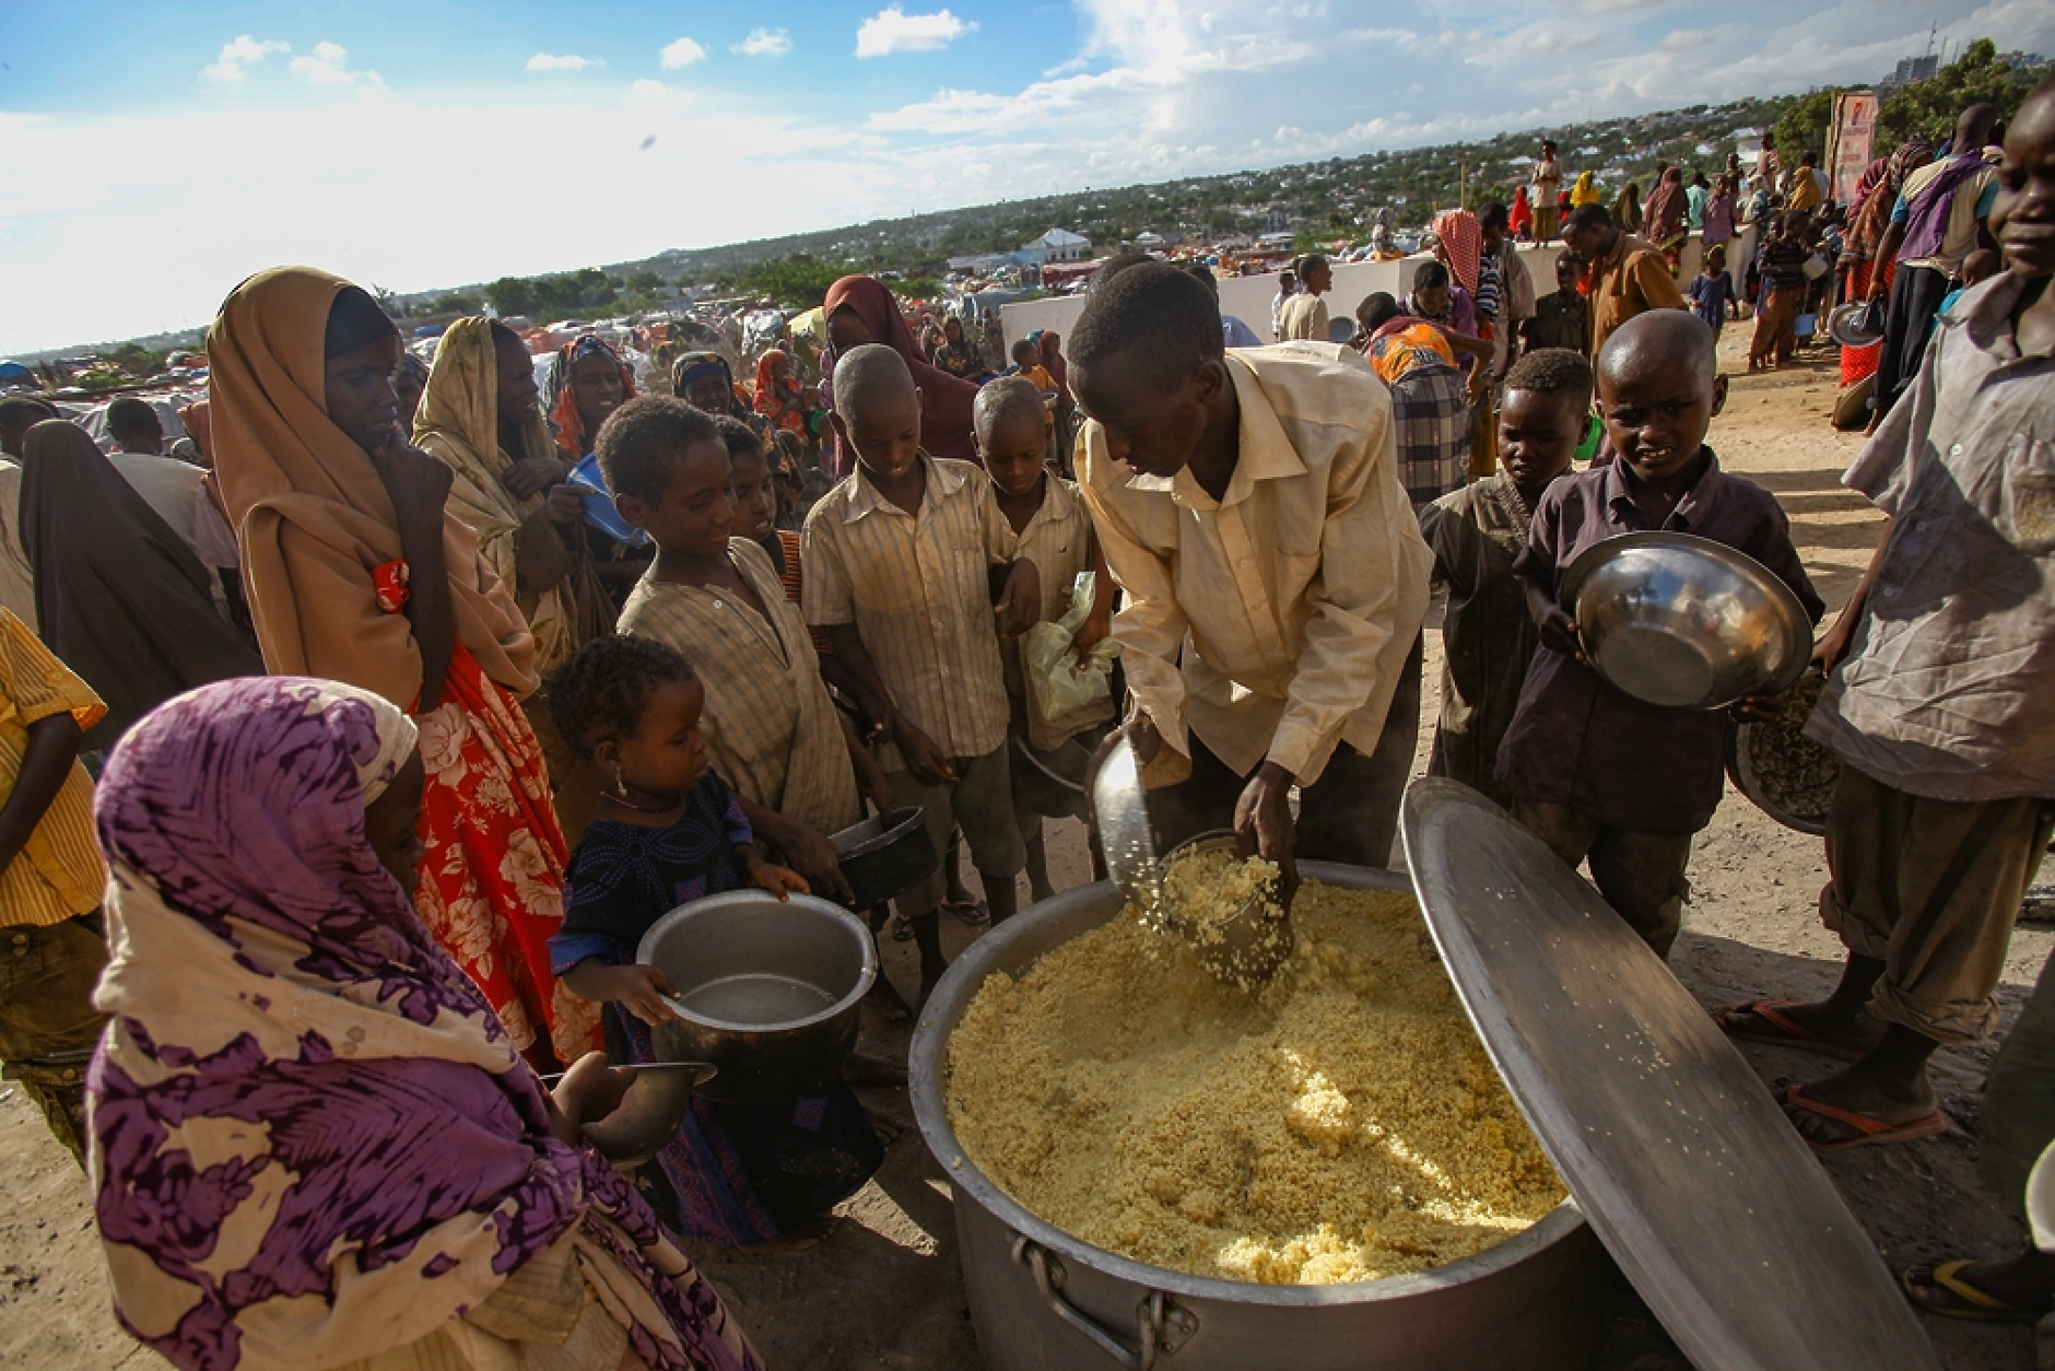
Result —
[[[921, 462], [917, 516], [861, 467], [806, 516], [806, 621], [853, 623], [900, 715], [947, 756], [984, 756], [1007, 740], [986, 571], [1013, 559], [1013, 530], [976, 467]], [[904, 771], [896, 746], [880, 761]]]

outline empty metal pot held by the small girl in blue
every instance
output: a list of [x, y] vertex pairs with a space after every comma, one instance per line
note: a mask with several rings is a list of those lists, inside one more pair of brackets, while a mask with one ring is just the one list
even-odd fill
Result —
[[785, 902], [730, 890], [670, 911], [635, 960], [678, 991], [676, 1020], [651, 1042], [660, 1061], [703, 1061], [699, 1094], [764, 1104], [826, 1094], [857, 1046], [857, 1007], [877, 978], [863, 921], [810, 894]]

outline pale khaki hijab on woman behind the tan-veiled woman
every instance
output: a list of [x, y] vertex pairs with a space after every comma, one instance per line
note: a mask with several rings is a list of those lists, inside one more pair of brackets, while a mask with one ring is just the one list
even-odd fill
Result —
[[[526, 354], [528, 347], [522, 345]], [[520, 499], [506, 487], [506, 473], [518, 460], [555, 452], [540, 409], [520, 417], [520, 452], [499, 448], [499, 345], [491, 319], [458, 319], [436, 345], [436, 366], [427, 372], [421, 407], [413, 415], [413, 440], [429, 456], [456, 473], [450, 512], [479, 539], [479, 557], [499, 584], [514, 592], [528, 631], [534, 662], [543, 672], [577, 647], [577, 604], [571, 578], [549, 590], [520, 588], [514, 534], [549, 499], [536, 491]]]

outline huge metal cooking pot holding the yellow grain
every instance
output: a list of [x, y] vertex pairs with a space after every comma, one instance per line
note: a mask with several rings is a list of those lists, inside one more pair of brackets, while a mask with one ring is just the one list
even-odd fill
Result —
[[[1301, 861], [1358, 890], [1399, 872]], [[1247, 1285], [1149, 1266], [1083, 1244], [1015, 1205], [964, 1155], [943, 1106], [949, 1034], [995, 972], [1120, 913], [1112, 884], [1023, 911], [964, 952], [912, 1036], [912, 1108], [956, 1196], [964, 1285], [988, 1371], [1572, 1371], [1591, 1361], [1605, 1252], [1572, 1202], [1463, 1262], [1362, 1285]]]

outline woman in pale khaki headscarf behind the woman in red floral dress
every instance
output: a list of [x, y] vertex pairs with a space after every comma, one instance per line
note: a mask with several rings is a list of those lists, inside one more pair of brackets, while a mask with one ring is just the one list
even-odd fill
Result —
[[[479, 539], [479, 555], [514, 590], [534, 633], [534, 674], [549, 674], [596, 633], [612, 629], [606, 588], [584, 553], [584, 502], [563, 485], [538, 403], [534, 362], [518, 333], [491, 319], [458, 319], [436, 345], [436, 366], [413, 419], [413, 440], [440, 458], [456, 483], [450, 512]], [[592, 818], [598, 769], [563, 744], [536, 689], [522, 713], [543, 744], [565, 843]]]

